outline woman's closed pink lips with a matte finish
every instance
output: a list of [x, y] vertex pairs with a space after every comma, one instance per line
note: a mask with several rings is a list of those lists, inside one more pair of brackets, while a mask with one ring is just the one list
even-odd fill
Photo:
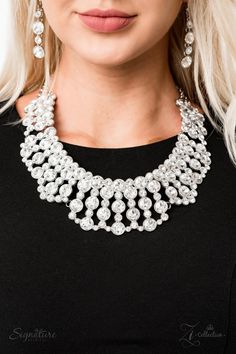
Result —
[[79, 13], [80, 19], [91, 29], [99, 32], [113, 32], [126, 27], [136, 15], [109, 9], [92, 9]]

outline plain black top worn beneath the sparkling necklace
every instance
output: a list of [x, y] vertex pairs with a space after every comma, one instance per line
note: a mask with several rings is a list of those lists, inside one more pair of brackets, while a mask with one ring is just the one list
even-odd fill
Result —
[[[173, 206], [153, 232], [115, 236], [39, 198], [20, 157], [25, 128], [5, 125], [17, 119], [13, 105], [0, 120], [1, 353], [236, 353], [236, 169], [209, 121], [196, 203]], [[94, 174], [126, 179], [156, 168], [176, 139], [64, 146]]]

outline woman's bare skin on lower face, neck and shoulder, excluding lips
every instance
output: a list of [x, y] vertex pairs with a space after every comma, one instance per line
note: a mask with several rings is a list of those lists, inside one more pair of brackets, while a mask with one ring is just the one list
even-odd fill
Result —
[[[53, 91], [61, 141], [89, 147], [132, 147], [179, 133], [179, 93], [168, 65], [168, 35], [183, 0], [42, 0], [63, 43]], [[77, 12], [115, 8], [137, 17], [117, 32], [95, 32]], [[24, 106], [37, 92], [23, 96]]]

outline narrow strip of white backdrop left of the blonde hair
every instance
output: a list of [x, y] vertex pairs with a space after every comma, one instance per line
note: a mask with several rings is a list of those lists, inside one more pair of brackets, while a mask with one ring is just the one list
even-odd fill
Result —
[[10, 0], [0, 0], [0, 68], [2, 67], [3, 58], [7, 45], [7, 21], [9, 19], [9, 3]]

